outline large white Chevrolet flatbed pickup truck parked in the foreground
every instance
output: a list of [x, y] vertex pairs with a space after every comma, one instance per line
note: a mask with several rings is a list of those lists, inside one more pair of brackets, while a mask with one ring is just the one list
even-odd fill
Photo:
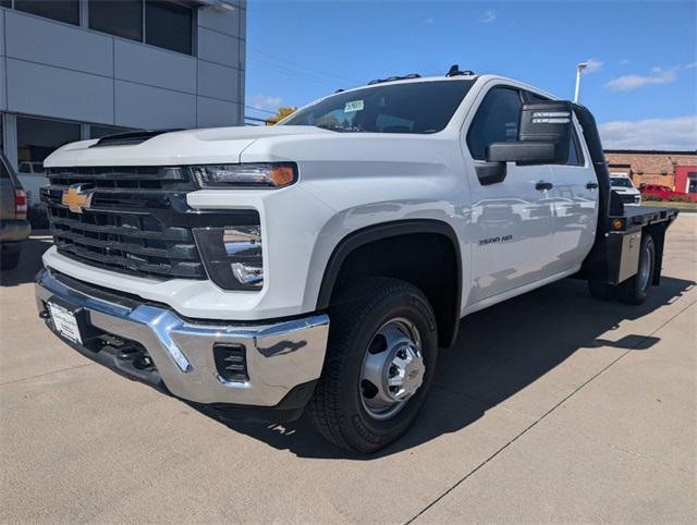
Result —
[[362, 453], [414, 422], [462, 317], [570, 276], [644, 301], [677, 215], [624, 210], [588, 110], [456, 66], [45, 164], [51, 330], [228, 417], [305, 412]]

